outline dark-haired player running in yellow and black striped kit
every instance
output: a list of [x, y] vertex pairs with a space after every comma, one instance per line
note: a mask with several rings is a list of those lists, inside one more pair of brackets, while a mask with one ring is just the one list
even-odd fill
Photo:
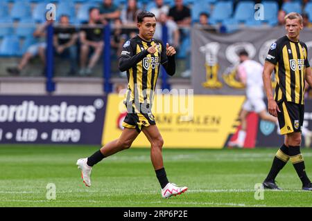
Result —
[[178, 187], [168, 182], [162, 159], [162, 146], [164, 141], [160, 135], [155, 119], [151, 113], [154, 90], [159, 74], [159, 64], [162, 64], [168, 75], [175, 73], [175, 48], [166, 47], [162, 41], [154, 39], [156, 18], [151, 12], [140, 12], [137, 15], [137, 28], [139, 35], [126, 41], [119, 57], [119, 69], [127, 70], [128, 90], [125, 94], [127, 115], [123, 122], [124, 130], [119, 139], [105, 144], [101, 150], [96, 151], [88, 158], [77, 161], [81, 169], [83, 182], [90, 186], [92, 166], [104, 157], [130, 148], [132, 142], [143, 131], [151, 144], [150, 159], [153, 163], [157, 179], [162, 186], [162, 197], [180, 195], [187, 191], [187, 187]]

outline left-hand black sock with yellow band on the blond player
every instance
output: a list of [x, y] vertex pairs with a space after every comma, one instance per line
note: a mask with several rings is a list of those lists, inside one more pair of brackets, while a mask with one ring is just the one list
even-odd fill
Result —
[[277, 176], [279, 171], [283, 169], [283, 167], [286, 165], [286, 163], [289, 160], [288, 149], [289, 149], [288, 146], [286, 146], [285, 144], [283, 144], [283, 146], [279, 148], [279, 150], [277, 151], [274, 157], [272, 167], [270, 169], [270, 172], [268, 173], [268, 177], [266, 177], [265, 181], [273, 181], [273, 182], [275, 181], [275, 177]]

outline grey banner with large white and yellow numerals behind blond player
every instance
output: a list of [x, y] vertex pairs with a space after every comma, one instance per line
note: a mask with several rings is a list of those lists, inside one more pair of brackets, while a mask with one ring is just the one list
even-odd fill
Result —
[[[239, 64], [237, 52], [245, 49], [251, 59], [264, 64], [272, 42], [284, 35], [284, 27], [249, 28], [232, 34], [192, 28], [191, 81], [194, 93], [243, 95], [245, 90], [236, 77], [236, 66]], [[308, 47], [311, 64], [312, 29], [302, 30], [300, 41]]]

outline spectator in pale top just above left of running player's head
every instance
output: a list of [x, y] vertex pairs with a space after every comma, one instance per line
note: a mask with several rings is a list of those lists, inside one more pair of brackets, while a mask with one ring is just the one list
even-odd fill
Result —
[[137, 0], [128, 0], [128, 6], [121, 11], [121, 22], [124, 25], [136, 26], [137, 14], [141, 12], [137, 8]]

